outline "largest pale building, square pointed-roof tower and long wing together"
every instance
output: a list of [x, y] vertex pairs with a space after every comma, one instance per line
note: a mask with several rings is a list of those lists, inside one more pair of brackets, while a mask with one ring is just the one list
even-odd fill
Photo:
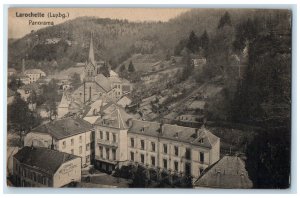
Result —
[[[135, 164], [172, 175], [200, 174], [220, 158], [220, 138], [199, 129], [124, 118], [115, 105], [95, 123], [95, 166]], [[127, 121], [127, 122], [125, 122]]]

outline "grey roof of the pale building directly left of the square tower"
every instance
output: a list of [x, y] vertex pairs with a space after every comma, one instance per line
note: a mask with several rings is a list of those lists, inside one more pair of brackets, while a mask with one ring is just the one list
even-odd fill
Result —
[[93, 126], [89, 122], [81, 118], [68, 117], [40, 125], [32, 129], [32, 132], [47, 133], [59, 140], [84, 133], [92, 128]]

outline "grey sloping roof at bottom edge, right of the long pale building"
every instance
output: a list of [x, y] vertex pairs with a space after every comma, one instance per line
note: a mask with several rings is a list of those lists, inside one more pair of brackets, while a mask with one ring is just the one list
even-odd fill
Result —
[[197, 187], [207, 188], [252, 188], [245, 163], [237, 156], [224, 156], [206, 169], [195, 182]]

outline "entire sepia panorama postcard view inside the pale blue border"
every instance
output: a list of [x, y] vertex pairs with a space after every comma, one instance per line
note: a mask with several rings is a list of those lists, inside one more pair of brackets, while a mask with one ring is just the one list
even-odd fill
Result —
[[8, 188], [289, 189], [293, 14], [9, 7]]

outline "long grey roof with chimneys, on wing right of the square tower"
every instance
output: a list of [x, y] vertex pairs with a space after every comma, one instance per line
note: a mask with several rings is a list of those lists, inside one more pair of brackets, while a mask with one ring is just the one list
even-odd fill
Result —
[[[207, 130], [204, 127], [197, 129], [178, 125], [163, 124], [161, 127], [162, 133], [160, 133], [160, 126], [161, 124], [158, 122], [132, 120], [132, 125], [130, 126], [128, 132], [139, 133], [154, 137], [159, 136], [161, 138], [187, 142], [193, 145], [203, 146], [206, 148], [211, 148], [219, 140], [217, 136], [212, 134], [209, 130]], [[197, 134], [199, 136], [197, 136]]]

